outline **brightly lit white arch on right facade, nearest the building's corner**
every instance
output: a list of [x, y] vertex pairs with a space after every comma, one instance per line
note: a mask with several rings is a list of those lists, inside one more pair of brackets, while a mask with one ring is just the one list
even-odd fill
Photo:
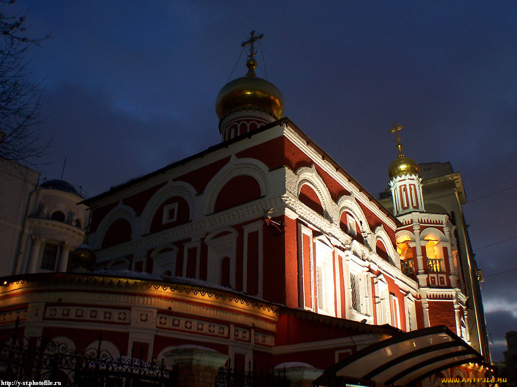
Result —
[[316, 171], [314, 165], [312, 165], [310, 168], [298, 168], [298, 170], [296, 171], [296, 175], [298, 176], [298, 181], [296, 182], [297, 198], [300, 197], [301, 188], [304, 185], [308, 185], [314, 190], [314, 192], [316, 192], [318, 199], [320, 199], [320, 202], [323, 207], [324, 217], [330, 220], [332, 223], [336, 223], [337, 221], [337, 224], [339, 225], [339, 218], [336, 219], [338, 217], [338, 206], [332, 200], [332, 197], [330, 196], [330, 192], [325, 182]]

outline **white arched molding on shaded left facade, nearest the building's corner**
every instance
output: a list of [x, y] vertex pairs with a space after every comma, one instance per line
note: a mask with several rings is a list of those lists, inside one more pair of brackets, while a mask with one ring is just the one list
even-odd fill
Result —
[[214, 206], [221, 189], [227, 182], [240, 175], [248, 175], [254, 178], [260, 186], [261, 196], [266, 196], [268, 193], [266, 174], [268, 170], [269, 168], [264, 163], [255, 158], [237, 158], [232, 155], [228, 164], [217, 172], [206, 186], [204, 214], [208, 215], [214, 212]]

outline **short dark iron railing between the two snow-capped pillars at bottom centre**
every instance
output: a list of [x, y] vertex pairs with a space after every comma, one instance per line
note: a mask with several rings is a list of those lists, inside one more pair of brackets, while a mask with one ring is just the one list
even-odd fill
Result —
[[221, 367], [216, 376], [215, 387], [290, 387], [291, 381], [285, 377], [285, 368], [266, 368], [260, 372], [256, 366], [251, 369], [251, 362], [248, 363], [248, 370], [234, 369], [229, 361], [228, 367]]

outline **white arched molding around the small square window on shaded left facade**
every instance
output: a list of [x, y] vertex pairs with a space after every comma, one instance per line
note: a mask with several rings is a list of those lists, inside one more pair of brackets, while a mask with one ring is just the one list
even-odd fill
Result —
[[155, 192], [153, 197], [149, 199], [147, 204], [145, 205], [144, 211], [140, 216], [142, 218], [142, 227], [141, 233], [142, 235], [146, 235], [150, 232], [151, 222], [160, 208], [162, 203], [172, 198], [173, 196], [179, 196], [188, 203], [189, 205], [189, 220], [192, 220], [194, 217], [194, 197], [195, 197], [195, 189], [190, 184], [185, 182], [172, 182], [169, 181], [166, 185], [161, 187], [158, 191]]

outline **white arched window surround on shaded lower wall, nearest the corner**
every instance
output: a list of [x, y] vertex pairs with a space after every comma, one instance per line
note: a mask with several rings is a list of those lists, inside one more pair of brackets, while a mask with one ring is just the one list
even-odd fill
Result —
[[[218, 236], [219, 234], [223, 234]], [[235, 261], [237, 248], [237, 230], [224, 227], [209, 233], [205, 238], [208, 247], [207, 278], [210, 283], [221, 284], [221, 263], [224, 257], [230, 258], [230, 286], [235, 289]]]

